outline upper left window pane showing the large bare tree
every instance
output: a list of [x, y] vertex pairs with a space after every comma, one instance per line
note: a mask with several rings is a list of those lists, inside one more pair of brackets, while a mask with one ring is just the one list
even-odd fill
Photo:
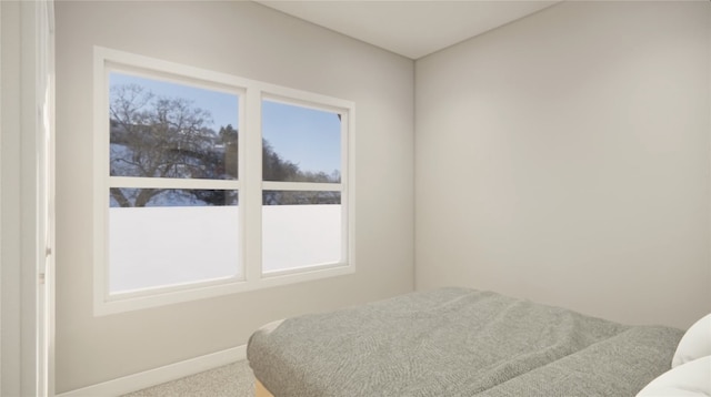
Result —
[[234, 180], [239, 96], [111, 72], [112, 176]]

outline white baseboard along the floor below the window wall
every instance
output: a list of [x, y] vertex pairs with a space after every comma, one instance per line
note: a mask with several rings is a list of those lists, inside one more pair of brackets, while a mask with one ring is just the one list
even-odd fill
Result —
[[180, 379], [208, 369], [221, 367], [247, 358], [247, 345], [232, 347], [227, 350], [187, 359], [122, 378], [104, 381], [98, 385], [62, 393], [57, 397], [113, 397], [141, 390], [167, 381]]

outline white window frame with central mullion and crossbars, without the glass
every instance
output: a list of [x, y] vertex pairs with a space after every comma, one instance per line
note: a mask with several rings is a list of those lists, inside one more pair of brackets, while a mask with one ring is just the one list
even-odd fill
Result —
[[[123, 51], [94, 47], [94, 315], [136, 311], [201, 298], [302, 283], [351, 274], [354, 261], [353, 205], [353, 102], [243, 79], [231, 74], [193, 68]], [[156, 181], [151, 185], [171, 189], [228, 189], [239, 193], [240, 265], [239, 277], [228, 277], [183, 285], [156, 287], [130, 293], [110, 294], [109, 289], [109, 189], [141, 187], [147, 179], [109, 175], [109, 73], [111, 71], [188, 83], [239, 95], [239, 177], [237, 181], [174, 180]], [[299, 106], [336, 112], [341, 115], [341, 183], [291, 183], [262, 181], [262, 99]], [[162, 179], [161, 179], [162, 180]], [[287, 187], [287, 189], [286, 189]], [[331, 264], [262, 272], [262, 190], [329, 190], [341, 192], [341, 261]]]

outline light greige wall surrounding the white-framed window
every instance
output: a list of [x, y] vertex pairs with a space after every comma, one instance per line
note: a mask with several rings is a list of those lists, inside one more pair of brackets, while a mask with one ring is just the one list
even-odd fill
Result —
[[[251, 2], [57, 3], [57, 391], [247, 343], [260, 325], [413, 282], [413, 62]], [[92, 315], [92, 45], [356, 102], [350, 276]]]

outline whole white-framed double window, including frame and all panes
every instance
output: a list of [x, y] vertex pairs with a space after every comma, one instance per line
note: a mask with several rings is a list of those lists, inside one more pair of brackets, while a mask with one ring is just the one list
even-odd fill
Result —
[[351, 273], [353, 104], [94, 49], [94, 313]]

